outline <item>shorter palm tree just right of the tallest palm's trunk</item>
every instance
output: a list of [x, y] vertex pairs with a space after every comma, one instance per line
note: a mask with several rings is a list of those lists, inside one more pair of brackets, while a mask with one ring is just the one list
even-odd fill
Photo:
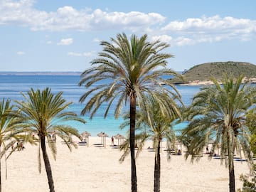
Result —
[[[181, 98], [178, 98], [178, 101], [181, 102]], [[160, 192], [160, 176], [161, 176], [161, 142], [163, 139], [166, 139], [167, 144], [174, 146], [176, 141], [176, 136], [172, 125], [174, 121], [178, 118], [181, 119], [180, 107], [176, 104], [175, 100], [172, 98], [166, 97], [164, 101], [166, 105], [166, 112], [163, 114], [160, 109], [159, 103], [154, 98], [148, 98], [147, 109], [139, 110], [137, 112], [137, 130], [139, 134], [136, 135], [138, 139], [139, 147], [137, 156], [139, 152], [142, 151], [144, 142], [147, 139], [153, 139], [153, 148], [155, 149], [155, 159], [154, 159], [154, 192]], [[182, 102], [181, 102], [182, 103]], [[127, 116], [126, 116], [127, 117]], [[127, 126], [129, 122], [124, 122], [121, 125], [121, 128]], [[122, 150], [124, 154], [122, 155], [120, 161], [124, 161], [124, 157], [127, 156], [127, 151], [129, 150], [128, 145], [123, 145]], [[168, 153], [168, 160], [170, 160], [170, 152]]]

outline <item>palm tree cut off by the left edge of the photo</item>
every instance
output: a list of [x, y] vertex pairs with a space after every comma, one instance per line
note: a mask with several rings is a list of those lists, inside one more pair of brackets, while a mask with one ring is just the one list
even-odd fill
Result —
[[[1, 158], [6, 156], [6, 152], [14, 146], [14, 143], [21, 139], [19, 133], [22, 132], [18, 129], [18, 119], [11, 115], [13, 110], [11, 100], [3, 99], [0, 102], [0, 191], [1, 191]], [[11, 153], [10, 153], [11, 154]]]

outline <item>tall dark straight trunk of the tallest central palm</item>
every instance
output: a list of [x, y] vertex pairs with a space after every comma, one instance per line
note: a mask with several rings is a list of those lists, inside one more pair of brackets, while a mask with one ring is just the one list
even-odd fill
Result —
[[130, 150], [132, 166], [132, 192], [137, 192], [137, 174], [135, 163], [135, 117], [136, 117], [136, 98], [130, 97]]

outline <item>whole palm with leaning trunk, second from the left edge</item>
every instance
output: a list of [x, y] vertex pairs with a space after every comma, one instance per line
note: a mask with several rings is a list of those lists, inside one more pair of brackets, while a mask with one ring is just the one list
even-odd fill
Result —
[[[39, 137], [39, 172], [41, 172], [41, 150], [43, 154], [43, 161], [46, 167], [46, 174], [48, 177], [48, 184], [50, 192], [54, 192], [53, 175], [50, 168], [50, 161], [46, 152], [46, 137], [53, 158], [56, 158], [56, 145], [53, 139], [49, 137], [49, 132], [55, 132], [71, 151], [71, 146], [77, 147], [72, 140], [72, 135], [80, 138], [78, 130], [69, 125], [62, 124], [70, 120], [85, 123], [84, 119], [78, 117], [74, 112], [65, 111], [71, 102], [66, 102], [62, 97], [62, 92], [53, 95], [47, 87], [43, 91], [33, 90], [27, 92], [27, 95], [21, 93], [25, 100], [16, 101], [18, 104], [18, 116], [23, 119], [22, 126], [26, 128], [27, 132], [36, 132]], [[41, 150], [40, 150], [41, 147]]]

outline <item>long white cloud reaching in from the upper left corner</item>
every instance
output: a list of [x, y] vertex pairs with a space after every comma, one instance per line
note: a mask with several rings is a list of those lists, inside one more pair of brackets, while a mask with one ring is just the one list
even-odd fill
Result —
[[97, 31], [113, 28], [146, 28], [163, 23], [164, 16], [157, 13], [144, 14], [131, 11], [109, 12], [95, 9], [77, 10], [63, 6], [56, 11], [46, 12], [33, 8], [33, 0], [0, 1], [0, 25], [16, 24], [28, 26], [32, 30], [47, 31]]

